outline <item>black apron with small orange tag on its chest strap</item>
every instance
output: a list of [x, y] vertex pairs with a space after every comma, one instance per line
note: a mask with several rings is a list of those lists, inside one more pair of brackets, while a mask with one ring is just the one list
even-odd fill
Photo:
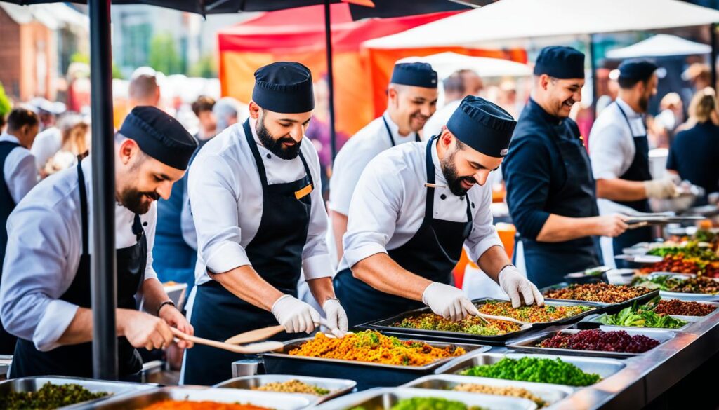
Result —
[[[309, 191], [299, 199], [297, 192], [314, 185], [310, 169], [300, 153], [306, 175], [300, 180], [267, 185], [265, 165], [262, 163], [249, 121], [245, 121], [244, 136], [255, 157], [262, 182], [262, 219], [244, 251], [252, 267], [280, 292], [297, 297], [297, 281], [302, 268], [302, 250], [307, 242], [311, 197]], [[191, 315], [195, 335], [212, 340], [225, 340], [247, 330], [277, 325], [271, 312], [256, 307], [224, 288], [217, 281], [197, 286]], [[273, 340], [289, 340], [298, 335], [282, 333]], [[186, 350], [185, 384], [213, 385], [232, 378], [232, 362], [247, 355], [195, 345]]]

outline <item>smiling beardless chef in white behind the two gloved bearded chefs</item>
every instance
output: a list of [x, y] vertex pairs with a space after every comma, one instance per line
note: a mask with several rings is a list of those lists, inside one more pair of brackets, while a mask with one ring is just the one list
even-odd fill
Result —
[[426, 62], [395, 64], [387, 98], [387, 111], [357, 131], [334, 160], [329, 180], [329, 208], [338, 259], [342, 258], [349, 201], [359, 175], [367, 163], [385, 149], [420, 141], [418, 132], [436, 111], [437, 73]]

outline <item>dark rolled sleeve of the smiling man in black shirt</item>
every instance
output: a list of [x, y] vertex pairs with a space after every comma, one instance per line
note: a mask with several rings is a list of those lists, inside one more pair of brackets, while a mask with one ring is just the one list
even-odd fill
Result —
[[507, 205], [521, 236], [536, 239], [550, 213], [546, 212], [551, 157], [541, 141], [525, 138], [510, 147], [502, 172]]

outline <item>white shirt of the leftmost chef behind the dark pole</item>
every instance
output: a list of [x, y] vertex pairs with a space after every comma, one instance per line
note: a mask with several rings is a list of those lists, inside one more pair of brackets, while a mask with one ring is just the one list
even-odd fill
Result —
[[[93, 247], [92, 172], [89, 158], [83, 160], [88, 192], [88, 246]], [[157, 278], [152, 269], [157, 204], [140, 215], [147, 235], [145, 280]], [[137, 243], [132, 233], [134, 213], [115, 206], [117, 249]], [[52, 174], [35, 187], [10, 214], [8, 241], [0, 283], [0, 314], [6, 330], [32, 340], [41, 351], [58, 347], [75, 317], [78, 306], [60, 300], [68, 290], [82, 253], [80, 192], [75, 167]]]

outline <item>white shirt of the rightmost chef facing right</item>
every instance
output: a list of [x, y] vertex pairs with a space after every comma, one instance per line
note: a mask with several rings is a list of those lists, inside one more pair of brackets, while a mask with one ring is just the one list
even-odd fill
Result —
[[[624, 110], [631, 130], [619, 107]], [[633, 136], [646, 135], [642, 116], [621, 98], [610, 104], [597, 118], [589, 134], [589, 153], [595, 180], [613, 180], [629, 169], [636, 148]]]

